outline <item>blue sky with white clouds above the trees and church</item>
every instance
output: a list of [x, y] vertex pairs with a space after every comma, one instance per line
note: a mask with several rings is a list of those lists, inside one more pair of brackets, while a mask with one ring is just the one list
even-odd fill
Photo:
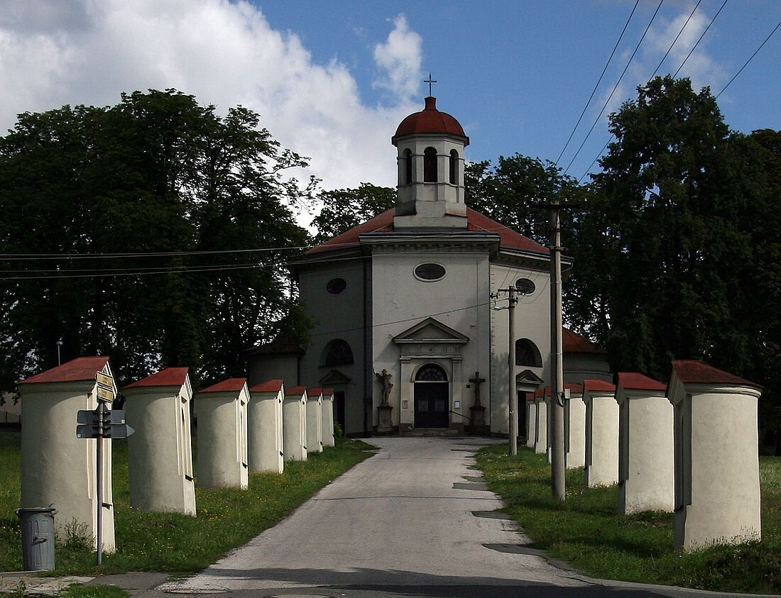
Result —
[[[308, 173], [324, 188], [394, 185], [390, 137], [423, 108], [429, 72], [438, 107], [471, 139], [467, 159], [519, 152], [555, 162], [635, 4], [0, 2], [0, 130], [18, 112], [111, 105], [122, 91], [176, 87], [221, 110], [242, 104], [260, 112], [274, 137], [311, 158]], [[665, 0], [651, 20], [658, 0], [640, 0], [559, 166], [572, 161], [576, 178], [587, 172], [608, 141], [599, 112], [634, 97], [687, 18], [659, 73], [675, 72], [710, 24], [679, 75], [722, 91], [781, 22], [779, 0], [723, 4], [701, 0], [692, 15], [696, 2]], [[733, 130], [781, 129], [779, 57], [781, 30], [720, 95]]]

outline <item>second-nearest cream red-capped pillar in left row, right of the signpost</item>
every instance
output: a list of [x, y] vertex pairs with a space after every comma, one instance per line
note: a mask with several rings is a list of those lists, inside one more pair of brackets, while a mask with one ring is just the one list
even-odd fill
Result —
[[166, 368], [122, 390], [130, 506], [142, 511], [195, 514], [187, 368]]

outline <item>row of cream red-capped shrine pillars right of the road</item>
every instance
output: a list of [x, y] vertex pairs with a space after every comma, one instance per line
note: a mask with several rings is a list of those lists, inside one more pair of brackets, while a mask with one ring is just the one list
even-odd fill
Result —
[[[676, 548], [761, 537], [761, 386], [701, 361], [672, 362], [666, 385], [620, 372], [567, 384], [565, 455], [587, 486], [619, 486], [619, 513], [675, 513]], [[527, 400], [526, 444], [550, 460], [551, 389]]]

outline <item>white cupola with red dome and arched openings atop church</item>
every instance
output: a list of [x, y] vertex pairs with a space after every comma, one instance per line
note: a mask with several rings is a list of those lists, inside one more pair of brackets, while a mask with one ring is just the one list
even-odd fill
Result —
[[394, 229], [466, 228], [464, 148], [469, 137], [458, 120], [437, 110], [437, 98], [399, 124]]

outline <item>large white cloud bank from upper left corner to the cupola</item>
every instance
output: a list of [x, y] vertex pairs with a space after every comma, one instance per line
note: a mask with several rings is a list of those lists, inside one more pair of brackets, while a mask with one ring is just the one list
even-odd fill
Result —
[[294, 33], [240, 0], [5, 0], [0, 14], [0, 130], [19, 112], [113, 105], [122, 91], [174, 87], [223, 111], [260, 113], [284, 147], [310, 156], [323, 187], [394, 185], [390, 137], [417, 91], [422, 40], [403, 16], [374, 59], [388, 105], [362, 105], [332, 59], [313, 62]]

